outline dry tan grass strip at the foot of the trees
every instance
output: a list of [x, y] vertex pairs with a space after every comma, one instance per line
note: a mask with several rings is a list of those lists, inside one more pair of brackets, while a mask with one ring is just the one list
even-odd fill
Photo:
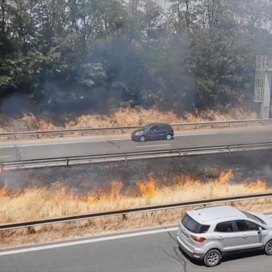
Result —
[[191, 123], [208, 120], [241, 120], [257, 118], [256, 113], [233, 108], [224, 111], [202, 111], [195, 113], [184, 113], [179, 117], [175, 113], [159, 112], [155, 109], [145, 110], [120, 108], [109, 115], [81, 115], [79, 117], [67, 115], [61, 121], [50, 118], [37, 117], [26, 113], [21, 118], [13, 119], [0, 116], [0, 133], [30, 130], [60, 130], [77, 128], [105, 128], [118, 126], [145, 125], [147, 123]]

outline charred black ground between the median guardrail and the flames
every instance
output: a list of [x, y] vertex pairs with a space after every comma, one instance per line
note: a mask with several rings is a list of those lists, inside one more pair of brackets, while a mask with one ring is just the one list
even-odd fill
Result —
[[212, 154], [170, 159], [149, 159], [122, 163], [88, 164], [69, 167], [51, 167], [20, 171], [5, 171], [0, 186], [5, 181], [8, 188], [18, 190], [28, 186], [62, 186], [88, 193], [94, 188], [110, 188], [112, 181], [121, 181], [124, 188], [134, 188], [135, 183], [150, 174], [158, 185], [171, 184], [180, 174], [196, 176], [203, 182], [217, 179], [220, 171], [231, 169], [233, 183], [266, 181], [272, 186], [272, 151]]

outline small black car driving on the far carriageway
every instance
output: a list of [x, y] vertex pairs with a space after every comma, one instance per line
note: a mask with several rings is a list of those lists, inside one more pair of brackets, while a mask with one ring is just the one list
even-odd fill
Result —
[[131, 134], [133, 141], [145, 142], [147, 140], [171, 140], [174, 137], [174, 130], [169, 124], [153, 123], [145, 125], [140, 130]]

